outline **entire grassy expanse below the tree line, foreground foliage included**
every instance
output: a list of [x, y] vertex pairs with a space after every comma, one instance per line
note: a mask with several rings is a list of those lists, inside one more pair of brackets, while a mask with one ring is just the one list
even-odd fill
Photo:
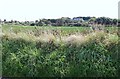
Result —
[[117, 77], [117, 27], [105, 29], [4, 25], [3, 76]]

